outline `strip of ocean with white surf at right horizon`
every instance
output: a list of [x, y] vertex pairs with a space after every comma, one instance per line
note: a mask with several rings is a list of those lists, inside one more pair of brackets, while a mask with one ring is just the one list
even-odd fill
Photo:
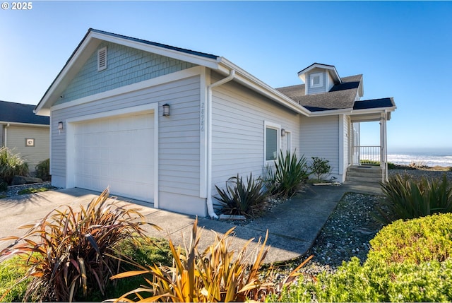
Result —
[[391, 152], [388, 151], [388, 162], [399, 165], [426, 165], [429, 167], [452, 167], [452, 150], [444, 152]]

